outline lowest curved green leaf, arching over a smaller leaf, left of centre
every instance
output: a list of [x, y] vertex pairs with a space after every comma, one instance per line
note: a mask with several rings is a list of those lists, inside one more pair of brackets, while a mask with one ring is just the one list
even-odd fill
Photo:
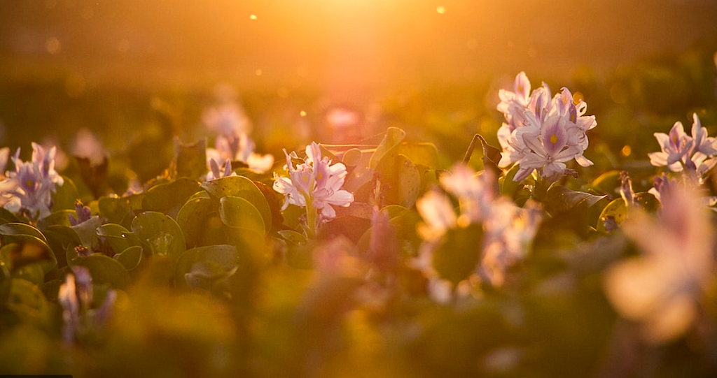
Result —
[[199, 262], [214, 263], [223, 271], [230, 271], [239, 263], [237, 247], [229, 245], [204, 246], [191, 248], [179, 256], [176, 263], [175, 275], [176, 284], [179, 287], [189, 287], [184, 278], [194, 264]]

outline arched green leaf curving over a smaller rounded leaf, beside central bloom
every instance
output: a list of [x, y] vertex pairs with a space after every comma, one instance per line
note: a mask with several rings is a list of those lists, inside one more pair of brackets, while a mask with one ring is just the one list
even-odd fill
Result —
[[255, 185], [254, 181], [243, 176], [230, 176], [218, 178], [217, 180], [206, 181], [201, 184], [209, 194], [214, 197], [240, 197], [254, 205], [264, 220], [265, 232], [272, 227], [272, 211], [262, 191]]

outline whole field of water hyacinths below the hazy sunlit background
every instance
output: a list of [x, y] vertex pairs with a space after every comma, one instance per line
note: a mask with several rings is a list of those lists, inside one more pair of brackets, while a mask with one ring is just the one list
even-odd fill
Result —
[[714, 377], [716, 51], [366, 107], [3, 79], [0, 374]]

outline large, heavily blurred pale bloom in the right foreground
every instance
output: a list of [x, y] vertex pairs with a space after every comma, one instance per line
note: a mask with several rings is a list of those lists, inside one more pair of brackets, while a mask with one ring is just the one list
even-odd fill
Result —
[[637, 321], [642, 336], [661, 344], [695, 324], [701, 296], [713, 278], [713, 225], [695, 188], [660, 185], [660, 218], [637, 211], [622, 228], [642, 250], [604, 276], [607, 298], [619, 314]]

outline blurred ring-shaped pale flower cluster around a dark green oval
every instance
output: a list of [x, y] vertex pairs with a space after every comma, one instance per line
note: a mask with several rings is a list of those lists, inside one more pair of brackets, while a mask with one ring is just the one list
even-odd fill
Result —
[[[506, 268], [525, 257], [528, 244], [535, 236], [540, 221], [538, 210], [518, 208], [508, 198], [495, 198], [493, 183], [489, 171], [476, 175], [467, 166], [457, 165], [452, 172], [440, 177], [440, 184], [457, 198], [459, 213], [438, 190], [427, 192], [416, 202], [424, 220], [417, 231], [424, 243], [412, 265], [429, 279], [429, 293], [439, 301], [447, 299], [451, 285], [435, 268], [435, 253], [452, 231], [482, 232], [478, 245], [460, 248], [474, 251], [471, 253], [475, 253], [475, 260], [479, 261], [468, 281], [478, 278], [495, 286], [503, 283]], [[478, 229], [473, 230], [474, 226]]]

